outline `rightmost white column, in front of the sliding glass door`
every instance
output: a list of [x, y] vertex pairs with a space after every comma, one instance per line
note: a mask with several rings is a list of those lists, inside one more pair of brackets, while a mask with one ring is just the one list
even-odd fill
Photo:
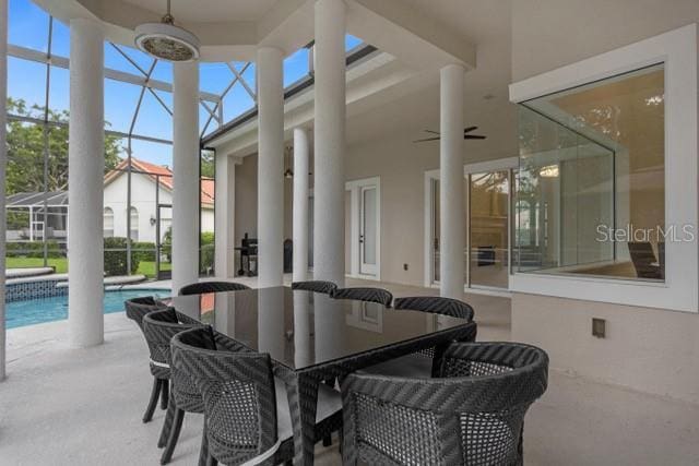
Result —
[[440, 294], [457, 299], [463, 299], [464, 286], [464, 67], [447, 65], [441, 70], [440, 87]]

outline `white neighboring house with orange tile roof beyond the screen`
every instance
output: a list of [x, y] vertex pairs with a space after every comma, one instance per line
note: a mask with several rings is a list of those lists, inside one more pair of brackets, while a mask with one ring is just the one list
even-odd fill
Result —
[[[128, 160], [122, 160], [105, 176], [104, 235], [127, 236]], [[161, 205], [161, 239], [173, 220], [173, 171], [159, 165], [131, 157], [131, 239], [155, 242], [157, 204]], [[159, 189], [158, 189], [159, 187]], [[157, 199], [156, 199], [157, 196]], [[214, 230], [214, 181], [201, 183], [201, 231]]]

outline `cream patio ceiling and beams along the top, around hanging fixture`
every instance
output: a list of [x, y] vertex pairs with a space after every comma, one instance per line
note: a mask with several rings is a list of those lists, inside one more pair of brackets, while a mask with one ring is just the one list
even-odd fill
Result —
[[[166, 3], [157, 0], [37, 0], [62, 21], [96, 17], [108, 25], [109, 40], [133, 44], [133, 29], [157, 22]], [[249, 61], [259, 46], [287, 55], [313, 39], [315, 0], [174, 1], [176, 22], [202, 43], [204, 61]], [[417, 69], [459, 62], [475, 67], [476, 47], [462, 33], [425, 21], [424, 12], [401, 0], [348, 0], [347, 33]], [[437, 2], [435, 2], [437, 3]], [[194, 7], [196, 5], [196, 7]], [[439, 5], [436, 5], [439, 9]], [[437, 21], [441, 23], [440, 21]]]

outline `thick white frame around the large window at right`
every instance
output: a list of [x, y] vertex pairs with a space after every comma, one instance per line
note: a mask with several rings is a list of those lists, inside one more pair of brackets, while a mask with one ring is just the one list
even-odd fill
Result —
[[697, 24], [690, 24], [510, 85], [510, 100], [518, 104], [663, 62], [665, 225], [695, 229], [691, 242], [666, 241], [665, 283], [514, 273], [513, 291], [699, 312], [697, 37]]

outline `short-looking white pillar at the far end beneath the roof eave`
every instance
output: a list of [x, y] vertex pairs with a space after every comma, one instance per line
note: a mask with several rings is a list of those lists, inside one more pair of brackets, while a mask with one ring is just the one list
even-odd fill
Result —
[[216, 155], [215, 195], [215, 263], [216, 276], [236, 276], [235, 214], [236, 214], [236, 164], [233, 157]]

